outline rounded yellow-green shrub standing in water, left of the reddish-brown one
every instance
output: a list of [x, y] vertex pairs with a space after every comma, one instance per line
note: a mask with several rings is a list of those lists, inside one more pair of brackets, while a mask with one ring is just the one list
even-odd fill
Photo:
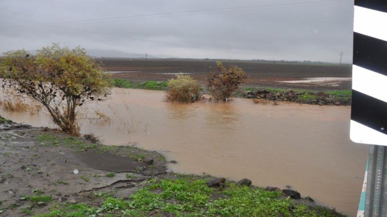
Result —
[[177, 75], [176, 79], [168, 81], [166, 90], [170, 102], [195, 102], [200, 97], [200, 85], [189, 75]]

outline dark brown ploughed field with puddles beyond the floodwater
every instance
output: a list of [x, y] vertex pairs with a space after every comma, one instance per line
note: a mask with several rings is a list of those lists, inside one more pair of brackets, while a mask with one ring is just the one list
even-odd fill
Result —
[[[167, 81], [175, 78], [173, 74], [190, 73], [204, 84], [205, 77], [216, 68], [215, 60], [176, 60], [176, 59], [99, 59], [106, 71], [122, 71], [113, 74], [113, 78], [132, 81]], [[302, 88], [313, 90], [351, 89], [351, 81], [341, 81], [338, 86], [322, 83], [282, 83], [278, 81], [302, 80], [314, 77], [351, 78], [351, 66], [259, 63], [253, 61], [228, 61], [225, 65], [237, 65], [247, 73], [243, 86], [266, 86], [276, 88]]]

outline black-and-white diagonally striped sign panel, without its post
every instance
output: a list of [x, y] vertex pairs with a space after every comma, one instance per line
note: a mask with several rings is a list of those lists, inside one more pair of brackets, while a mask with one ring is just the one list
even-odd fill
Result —
[[351, 140], [387, 146], [387, 0], [355, 0]]

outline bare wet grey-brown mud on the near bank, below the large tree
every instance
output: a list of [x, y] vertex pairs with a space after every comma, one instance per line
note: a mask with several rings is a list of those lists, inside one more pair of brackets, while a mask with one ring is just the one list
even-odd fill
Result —
[[[51, 195], [54, 201], [75, 203], [86, 192], [120, 189], [117, 195], [127, 197], [141, 181], [165, 173], [166, 164], [155, 151], [104, 146], [10, 121], [0, 123], [0, 153], [0, 215], [9, 217], [24, 216], [23, 210], [31, 208], [21, 199], [26, 195]], [[50, 208], [32, 206], [34, 213]]]

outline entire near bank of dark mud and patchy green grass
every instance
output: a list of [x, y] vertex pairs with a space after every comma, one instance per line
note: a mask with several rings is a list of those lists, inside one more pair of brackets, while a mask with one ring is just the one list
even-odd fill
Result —
[[[111, 214], [111, 216], [178, 216], [177, 213], [188, 214], [192, 211], [190, 211], [191, 208], [167, 212], [160, 207], [152, 207], [150, 203], [145, 205], [147, 207], [145, 211], [139, 207], [137, 209], [135, 201], [139, 190], [142, 190], [140, 193], [148, 191], [152, 197], [156, 197], [156, 195], [170, 191], [170, 189], [163, 188], [165, 182], [169, 182], [171, 187], [175, 188], [176, 184], [183, 186], [180, 183], [181, 180], [183, 182], [188, 180], [186, 181], [187, 186], [192, 185], [194, 188], [198, 180], [199, 184], [200, 180], [206, 180], [199, 188], [205, 188], [202, 193], [208, 196], [209, 203], [216, 203], [233, 198], [233, 195], [223, 193], [224, 190], [240, 193], [246, 190], [243, 186], [252, 184], [251, 180], [247, 179], [235, 183], [209, 175], [166, 173], [164, 156], [155, 151], [138, 149], [133, 145], [104, 146], [52, 129], [17, 124], [1, 118], [0, 216], [15, 217], [48, 212], [50, 212], [48, 216], [57, 216], [70, 213], [67, 210], [68, 207], [72, 207], [71, 212], [79, 209], [78, 212], [82, 216], [95, 216], [100, 213]], [[315, 205], [312, 198], [300, 198], [300, 193], [294, 190], [286, 189], [281, 192], [275, 187], [268, 187], [265, 190], [255, 186], [251, 187], [248, 189], [250, 193], [267, 192], [268, 195], [271, 195], [270, 197], [273, 197], [273, 201], [286, 203], [289, 207], [284, 207], [282, 212], [293, 213], [292, 209], [300, 209], [302, 211], [300, 214], [303, 216], [308, 216], [305, 215], [307, 213], [343, 216], [334, 210]], [[175, 189], [175, 191], [182, 192], [189, 190]], [[128, 200], [129, 195], [136, 197]], [[194, 195], [192, 197], [195, 198]], [[288, 197], [295, 200], [289, 200]], [[117, 204], [112, 205], [112, 200]], [[161, 202], [153, 202], [166, 207], [179, 207], [187, 203], [179, 197], [172, 196]], [[119, 205], [121, 203], [122, 205]], [[106, 207], [106, 204], [109, 206]], [[192, 204], [195, 205], [194, 200]], [[111, 206], [117, 207], [113, 209]], [[123, 210], [129, 207], [135, 210], [135, 215]], [[221, 206], [197, 207], [196, 209], [208, 214], [211, 210], [211, 212], [217, 212], [218, 208], [220, 209]], [[226, 208], [223, 211], [228, 212]], [[299, 216], [298, 211], [294, 213], [295, 216]], [[214, 216], [207, 214], [202, 216]]]

